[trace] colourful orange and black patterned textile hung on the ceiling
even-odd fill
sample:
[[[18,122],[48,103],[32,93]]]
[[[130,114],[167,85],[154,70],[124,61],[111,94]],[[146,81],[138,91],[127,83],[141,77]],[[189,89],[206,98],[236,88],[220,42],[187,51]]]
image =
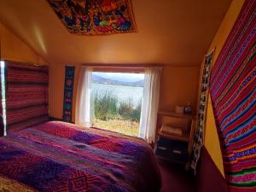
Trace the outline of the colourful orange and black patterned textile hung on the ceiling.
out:
[[[47,0],[68,32],[110,35],[137,32],[131,0]]]

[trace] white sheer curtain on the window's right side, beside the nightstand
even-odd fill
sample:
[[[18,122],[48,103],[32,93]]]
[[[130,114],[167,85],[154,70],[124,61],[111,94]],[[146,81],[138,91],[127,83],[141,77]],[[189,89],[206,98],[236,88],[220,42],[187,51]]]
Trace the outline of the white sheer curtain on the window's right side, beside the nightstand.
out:
[[[139,137],[154,142],[157,112],[160,97],[160,67],[145,69],[143,106],[140,121]]]

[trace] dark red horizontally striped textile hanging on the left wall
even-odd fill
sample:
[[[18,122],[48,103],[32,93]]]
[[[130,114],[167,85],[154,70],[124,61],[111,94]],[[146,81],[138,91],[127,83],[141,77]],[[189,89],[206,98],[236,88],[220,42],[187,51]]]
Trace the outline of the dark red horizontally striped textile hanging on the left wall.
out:
[[[6,67],[8,132],[48,120],[49,68],[12,61]]]

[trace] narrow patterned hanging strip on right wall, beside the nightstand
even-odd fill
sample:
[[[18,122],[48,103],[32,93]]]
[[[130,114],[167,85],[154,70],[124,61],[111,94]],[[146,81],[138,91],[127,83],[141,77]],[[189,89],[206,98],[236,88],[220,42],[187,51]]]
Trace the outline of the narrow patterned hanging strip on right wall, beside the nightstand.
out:
[[[196,171],[196,165],[200,159],[201,148],[204,145],[205,137],[205,124],[206,124],[206,112],[207,112],[207,97],[208,97],[208,84],[210,78],[210,72],[212,67],[212,60],[214,56],[215,49],[213,49],[209,54],[205,56],[205,63],[202,69],[201,76],[201,87],[200,87],[200,97],[197,109],[197,121],[195,127],[195,137],[193,143],[193,153],[191,158],[191,168]]]

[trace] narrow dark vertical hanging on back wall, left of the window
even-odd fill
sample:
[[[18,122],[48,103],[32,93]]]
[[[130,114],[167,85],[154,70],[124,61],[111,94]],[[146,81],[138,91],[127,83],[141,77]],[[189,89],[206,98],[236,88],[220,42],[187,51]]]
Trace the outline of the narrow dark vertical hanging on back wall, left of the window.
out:
[[[72,121],[72,99],[73,99],[73,80],[75,67],[67,67],[65,73],[64,102],[63,102],[63,121]]]

